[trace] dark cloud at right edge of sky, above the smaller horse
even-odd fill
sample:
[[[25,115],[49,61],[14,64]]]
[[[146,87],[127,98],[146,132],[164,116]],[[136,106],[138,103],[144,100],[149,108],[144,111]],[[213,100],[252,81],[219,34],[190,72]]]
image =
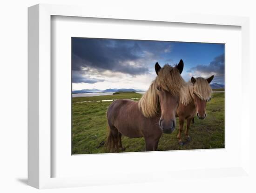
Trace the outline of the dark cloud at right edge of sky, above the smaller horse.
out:
[[[190,69],[190,72],[215,75],[214,82],[224,83],[224,54],[217,56],[209,65],[196,65]]]

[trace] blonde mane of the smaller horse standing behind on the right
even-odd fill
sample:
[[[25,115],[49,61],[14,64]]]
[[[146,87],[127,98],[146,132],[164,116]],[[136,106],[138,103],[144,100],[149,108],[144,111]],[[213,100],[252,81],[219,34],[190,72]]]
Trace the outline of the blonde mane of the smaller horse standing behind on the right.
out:
[[[212,89],[205,78],[195,78],[195,84],[189,81],[180,91],[180,103],[189,104],[194,100],[194,94],[202,100],[209,100],[212,97]]]

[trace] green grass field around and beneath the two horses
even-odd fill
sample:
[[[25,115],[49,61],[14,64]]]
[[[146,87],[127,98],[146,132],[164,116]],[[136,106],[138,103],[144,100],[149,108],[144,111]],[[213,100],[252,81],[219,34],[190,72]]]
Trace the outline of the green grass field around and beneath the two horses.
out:
[[[224,148],[224,95],[225,93],[213,93],[212,100],[207,104],[207,117],[204,120],[195,117],[195,123],[190,126],[190,142],[183,146],[178,144],[176,126],[172,134],[162,135],[158,150]],[[108,96],[73,97],[73,154],[107,153],[104,146],[108,136],[106,112],[112,101],[104,100],[121,98],[139,100],[141,96],[138,93],[128,92]],[[176,121],[178,123],[178,118]],[[185,127],[186,124],[184,130]],[[126,148],[124,152],[145,151],[144,138],[132,139],[122,136],[122,142]]]

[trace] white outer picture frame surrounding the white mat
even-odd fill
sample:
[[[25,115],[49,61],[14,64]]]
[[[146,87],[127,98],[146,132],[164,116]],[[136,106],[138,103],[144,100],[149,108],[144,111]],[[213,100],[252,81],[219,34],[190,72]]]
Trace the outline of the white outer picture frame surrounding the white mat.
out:
[[[242,97],[247,98],[249,88],[249,18],[216,15],[184,15],[176,13],[130,13],[102,9],[101,12],[83,6],[62,6],[38,4],[28,8],[28,185],[36,188],[77,187],[100,184],[138,183],[175,178],[180,171],[154,172],[155,177],[145,174],[110,176],[104,182],[98,176],[52,178],[51,167],[51,16],[73,16],[106,19],[130,19],[156,22],[178,22],[203,25],[240,26],[242,30]],[[249,112],[249,100],[243,100],[243,112]],[[242,116],[242,119],[245,118]],[[242,120],[243,121],[243,120]],[[218,177],[220,172],[234,174],[241,178],[250,177],[249,121],[241,134],[242,161],[235,168],[205,168],[194,171],[195,176],[207,173]],[[149,171],[150,172],[150,171]],[[193,178],[193,175],[190,178]],[[162,178],[159,178],[162,176]],[[219,176],[222,177],[223,176]]]

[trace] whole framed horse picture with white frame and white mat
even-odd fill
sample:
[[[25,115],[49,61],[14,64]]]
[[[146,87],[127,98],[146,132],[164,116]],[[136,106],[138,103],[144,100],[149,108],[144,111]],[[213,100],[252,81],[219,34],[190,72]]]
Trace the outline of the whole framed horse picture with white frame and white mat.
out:
[[[28,184],[250,178],[249,19],[114,15],[28,8]]]

